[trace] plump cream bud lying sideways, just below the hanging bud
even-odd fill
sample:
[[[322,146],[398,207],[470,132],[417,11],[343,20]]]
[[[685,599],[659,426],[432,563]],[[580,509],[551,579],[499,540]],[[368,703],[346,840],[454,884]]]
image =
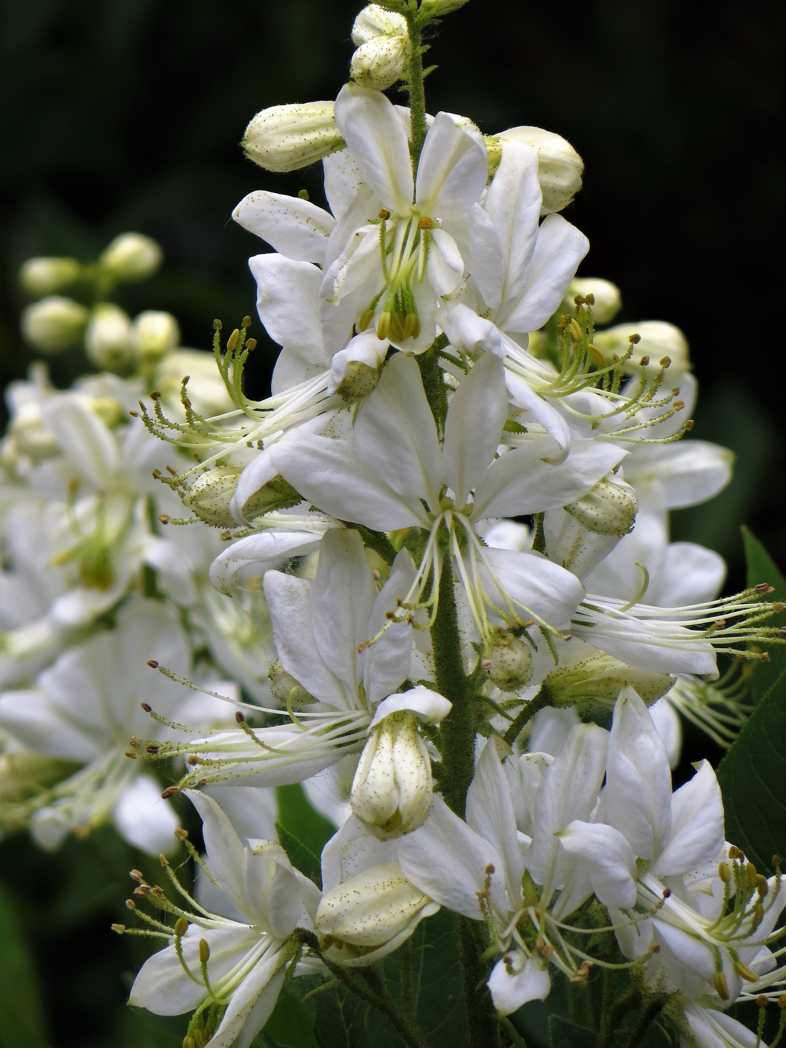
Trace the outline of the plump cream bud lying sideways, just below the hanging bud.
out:
[[[314,927],[342,945],[381,946],[414,930],[427,908],[431,913],[439,909],[405,877],[398,863],[385,863],[326,892]]]

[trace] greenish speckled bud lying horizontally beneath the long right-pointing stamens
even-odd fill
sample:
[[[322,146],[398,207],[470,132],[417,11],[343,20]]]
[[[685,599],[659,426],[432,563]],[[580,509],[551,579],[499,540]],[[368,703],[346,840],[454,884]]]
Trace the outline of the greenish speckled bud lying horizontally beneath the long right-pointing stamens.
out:
[[[674,684],[664,673],[636,670],[606,652],[595,651],[573,665],[558,667],[543,681],[552,706],[589,706],[613,709],[619,693],[628,684],[652,705]]]

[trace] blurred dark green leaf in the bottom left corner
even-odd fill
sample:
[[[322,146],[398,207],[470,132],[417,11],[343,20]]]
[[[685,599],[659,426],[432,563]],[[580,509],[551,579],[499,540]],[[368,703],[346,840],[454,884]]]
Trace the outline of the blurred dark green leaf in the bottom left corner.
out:
[[[4,1048],[44,1048],[44,1007],[32,958],[2,885],[0,943],[0,1043]]]

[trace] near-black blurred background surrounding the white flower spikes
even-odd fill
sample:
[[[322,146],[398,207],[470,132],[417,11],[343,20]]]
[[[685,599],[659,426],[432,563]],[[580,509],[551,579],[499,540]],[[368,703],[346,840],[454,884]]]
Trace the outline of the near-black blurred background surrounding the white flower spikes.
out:
[[[139,231],[161,243],[166,263],[117,296],[132,314],[169,309],[184,344],[204,348],[214,316],[234,327],[254,314],[246,258],[261,244],[232,209],[259,188],[324,197],[319,168],[271,175],[238,143],[266,106],[335,96],[358,9],[356,0],[0,4],[3,383],[30,361],[16,272],[31,255],[89,261],[117,233]],[[592,244],[581,271],[620,286],[618,320],[682,328],[701,383],[693,435],[737,453],[729,488],[675,514],[673,526],[674,538],[719,550],[735,587],[740,524],[786,560],[785,23],[776,2],[473,0],[435,32],[427,59],[439,65],[427,81],[431,112],[464,113],[485,132],[544,127],[584,157],[584,190],[566,212]],[[254,334],[262,393],[275,352],[256,321]],[[63,385],[84,369],[75,354],[51,364]],[[689,738],[685,756],[697,747],[706,751]],[[123,920],[132,860],[104,834],[46,860],[26,839],[0,849],[58,1048],[179,1043],[122,1007],[118,973],[135,961],[107,924]],[[87,911],[78,905],[86,885]]]

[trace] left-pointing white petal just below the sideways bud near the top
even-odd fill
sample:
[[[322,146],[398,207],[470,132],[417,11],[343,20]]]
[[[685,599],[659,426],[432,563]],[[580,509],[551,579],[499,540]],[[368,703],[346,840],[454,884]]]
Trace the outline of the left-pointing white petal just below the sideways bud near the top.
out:
[[[266,240],[277,252],[298,262],[322,262],[335,219],[323,208],[300,197],[257,190],[243,197],[232,213],[235,221]]]

